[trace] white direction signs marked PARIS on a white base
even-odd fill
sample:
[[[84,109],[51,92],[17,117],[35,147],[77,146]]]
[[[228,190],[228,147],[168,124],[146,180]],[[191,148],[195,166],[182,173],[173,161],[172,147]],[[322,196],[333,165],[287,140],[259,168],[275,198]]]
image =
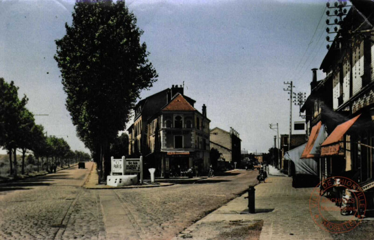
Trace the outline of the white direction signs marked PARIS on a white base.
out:
[[[137,173],[140,173],[140,183],[143,183],[143,157],[126,159],[122,156],[121,159],[114,159],[111,157],[112,171],[107,176],[107,185],[123,186],[133,185],[138,181]],[[134,174],[136,173],[136,174]]]

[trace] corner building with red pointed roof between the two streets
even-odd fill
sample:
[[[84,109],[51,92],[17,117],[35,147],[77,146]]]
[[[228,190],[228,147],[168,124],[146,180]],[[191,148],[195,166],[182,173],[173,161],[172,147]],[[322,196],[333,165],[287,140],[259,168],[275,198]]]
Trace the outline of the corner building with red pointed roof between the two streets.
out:
[[[133,139],[129,151],[144,156],[144,169],[154,167],[162,176],[189,168],[197,174],[209,169],[210,120],[205,104],[200,112],[195,102],[177,85],[139,101],[128,129]]]

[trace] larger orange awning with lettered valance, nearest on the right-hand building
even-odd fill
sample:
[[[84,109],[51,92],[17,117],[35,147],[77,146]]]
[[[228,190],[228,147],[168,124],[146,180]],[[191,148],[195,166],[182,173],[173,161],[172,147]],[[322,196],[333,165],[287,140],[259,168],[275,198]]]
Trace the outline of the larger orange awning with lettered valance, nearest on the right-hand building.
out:
[[[353,123],[357,120],[357,118],[360,115],[361,114],[335,127],[331,134],[321,144],[321,156],[331,156],[338,154],[340,149],[341,138],[344,136],[345,132],[353,125]]]

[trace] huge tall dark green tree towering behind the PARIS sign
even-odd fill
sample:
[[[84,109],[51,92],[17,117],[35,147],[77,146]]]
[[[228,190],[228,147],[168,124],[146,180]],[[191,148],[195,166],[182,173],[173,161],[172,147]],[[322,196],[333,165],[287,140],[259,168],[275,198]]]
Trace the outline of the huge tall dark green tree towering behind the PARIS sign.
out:
[[[61,71],[77,135],[98,164],[99,181],[110,172],[110,145],[125,129],[142,89],[156,81],[143,33],[123,0],[80,0],[72,25],[56,40]]]

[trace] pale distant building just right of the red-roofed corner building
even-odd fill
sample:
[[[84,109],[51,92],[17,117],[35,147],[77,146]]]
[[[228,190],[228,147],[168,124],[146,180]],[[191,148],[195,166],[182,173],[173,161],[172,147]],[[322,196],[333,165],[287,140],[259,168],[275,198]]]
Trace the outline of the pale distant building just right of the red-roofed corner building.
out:
[[[215,127],[210,131],[211,147],[218,149],[222,153],[225,161],[234,163],[239,166],[242,158],[241,139],[239,133],[233,128],[226,131],[219,127]]]

